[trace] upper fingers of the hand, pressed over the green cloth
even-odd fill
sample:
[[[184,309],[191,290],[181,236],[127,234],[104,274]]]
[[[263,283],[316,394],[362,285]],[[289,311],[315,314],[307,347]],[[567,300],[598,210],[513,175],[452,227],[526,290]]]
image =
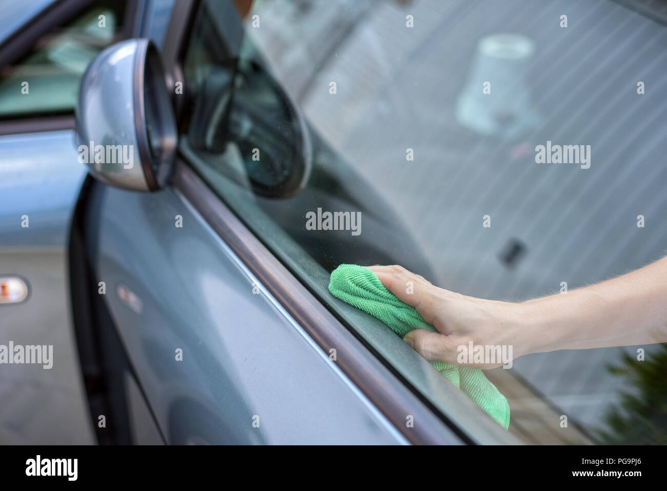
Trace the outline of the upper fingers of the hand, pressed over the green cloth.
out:
[[[444,290],[436,288],[424,278],[402,266],[369,266],[387,290],[396,295],[406,304],[416,308],[420,316],[429,324],[438,318],[438,308],[442,303]],[[436,326],[437,327],[437,326]]]

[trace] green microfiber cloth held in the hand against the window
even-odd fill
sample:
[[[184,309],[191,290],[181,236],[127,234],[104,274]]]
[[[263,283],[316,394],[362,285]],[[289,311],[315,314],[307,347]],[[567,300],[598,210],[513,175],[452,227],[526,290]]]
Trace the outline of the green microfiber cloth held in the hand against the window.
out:
[[[363,266],[338,266],[331,273],[329,292],[380,319],[401,338],[415,329],[438,332],[414,307],[387,290],[376,274]],[[510,405],[482,370],[438,361],[431,361],[431,364],[507,430],[510,426]]]

